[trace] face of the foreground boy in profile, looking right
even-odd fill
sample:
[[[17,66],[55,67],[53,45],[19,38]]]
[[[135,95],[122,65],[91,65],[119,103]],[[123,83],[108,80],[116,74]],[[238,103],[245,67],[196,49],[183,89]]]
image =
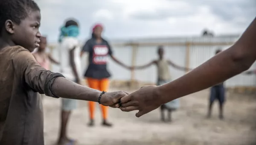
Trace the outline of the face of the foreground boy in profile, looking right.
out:
[[[41,14],[39,11],[30,11],[28,16],[21,20],[20,25],[14,24],[12,40],[15,45],[23,46],[32,52],[40,45],[41,34],[39,26]]]

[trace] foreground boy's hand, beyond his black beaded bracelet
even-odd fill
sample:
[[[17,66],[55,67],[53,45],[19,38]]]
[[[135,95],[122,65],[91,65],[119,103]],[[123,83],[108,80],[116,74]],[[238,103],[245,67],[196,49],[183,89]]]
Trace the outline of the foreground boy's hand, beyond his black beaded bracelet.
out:
[[[107,92],[102,95],[102,98],[100,100],[100,103],[103,106],[110,106],[113,108],[118,108],[120,99],[124,96],[129,95],[129,93],[125,91],[117,91],[117,92]]]

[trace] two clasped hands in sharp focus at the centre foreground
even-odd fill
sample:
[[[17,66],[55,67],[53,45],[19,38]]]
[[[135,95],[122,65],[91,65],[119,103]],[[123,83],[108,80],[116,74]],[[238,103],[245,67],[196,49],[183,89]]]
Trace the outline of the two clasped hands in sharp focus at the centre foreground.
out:
[[[101,99],[101,104],[104,106],[119,108],[125,112],[139,110],[136,113],[137,117],[157,109],[164,103],[158,86],[141,87],[133,93],[125,91],[105,93]]]

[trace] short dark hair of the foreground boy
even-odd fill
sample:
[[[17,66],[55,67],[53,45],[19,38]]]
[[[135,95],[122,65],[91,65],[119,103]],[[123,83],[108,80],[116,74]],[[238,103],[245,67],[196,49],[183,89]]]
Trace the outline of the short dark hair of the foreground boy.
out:
[[[40,11],[33,0],[0,0],[0,32],[6,20],[20,24],[28,16],[29,11]]]

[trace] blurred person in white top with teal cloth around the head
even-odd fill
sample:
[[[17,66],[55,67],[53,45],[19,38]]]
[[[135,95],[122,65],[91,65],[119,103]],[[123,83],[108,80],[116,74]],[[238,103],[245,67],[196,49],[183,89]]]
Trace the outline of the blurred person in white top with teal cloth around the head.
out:
[[[79,26],[75,20],[68,20],[61,28],[59,38],[61,73],[65,78],[81,84],[81,66],[80,66],[80,47],[77,36],[79,35]],[[72,110],[76,109],[77,100],[62,98],[61,108],[61,130],[58,139],[58,145],[73,145],[75,140],[67,137],[67,123]]]

